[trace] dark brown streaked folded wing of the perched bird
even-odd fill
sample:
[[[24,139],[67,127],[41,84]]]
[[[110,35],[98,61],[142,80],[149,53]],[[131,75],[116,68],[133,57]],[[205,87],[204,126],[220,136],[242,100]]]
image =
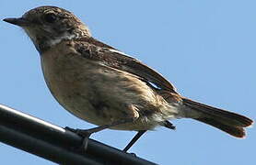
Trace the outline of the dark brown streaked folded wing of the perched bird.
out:
[[[130,72],[145,82],[154,83],[161,90],[177,93],[175,87],[157,71],[95,38],[79,38],[76,43],[76,50],[87,59],[99,60],[104,65]]]

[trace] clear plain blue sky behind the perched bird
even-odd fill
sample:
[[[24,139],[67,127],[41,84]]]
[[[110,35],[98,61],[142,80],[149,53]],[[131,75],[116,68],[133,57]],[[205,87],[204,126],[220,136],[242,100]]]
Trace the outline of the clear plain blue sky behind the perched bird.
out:
[[[184,96],[256,118],[256,1],[1,0],[0,18],[46,5],[72,11],[95,38],[143,60]],[[0,30],[0,103],[58,126],[92,127],[53,99],[39,54],[23,30],[3,21]],[[255,127],[237,139],[190,119],[172,123],[177,130],[158,127],[130,151],[163,165],[256,163]],[[133,136],[104,130],[92,138],[123,148]],[[0,155],[3,164],[52,164],[3,143]]]

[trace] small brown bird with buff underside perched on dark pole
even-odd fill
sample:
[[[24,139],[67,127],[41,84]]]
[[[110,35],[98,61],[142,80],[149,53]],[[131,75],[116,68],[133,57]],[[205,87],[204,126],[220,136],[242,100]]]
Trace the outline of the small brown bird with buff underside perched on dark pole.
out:
[[[23,28],[41,57],[45,82],[65,110],[97,125],[72,129],[87,139],[103,129],[136,131],[127,152],[148,130],[175,129],[169,120],[192,118],[232,137],[246,136],[253,120],[186,98],[160,73],[93,38],[70,11],[39,6],[4,21]],[[87,140],[84,145],[86,146]]]

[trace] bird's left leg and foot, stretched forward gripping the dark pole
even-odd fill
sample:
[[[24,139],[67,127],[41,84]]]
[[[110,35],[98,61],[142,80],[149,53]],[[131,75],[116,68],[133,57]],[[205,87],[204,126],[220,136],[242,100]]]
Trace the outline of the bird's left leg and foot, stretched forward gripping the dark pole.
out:
[[[81,137],[84,137],[82,147],[84,150],[87,150],[88,137],[90,137],[91,134],[99,132],[106,128],[110,128],[112,126],[119,126],[125,123],[131,123],[131,122],[134,122],[134,120],[135,120],[134,118],[125,118],[125,119],[112,122],[110,125],[97,126],[90,129],[73,129],[70,127],[65,127],[65,129],[75,132]]]

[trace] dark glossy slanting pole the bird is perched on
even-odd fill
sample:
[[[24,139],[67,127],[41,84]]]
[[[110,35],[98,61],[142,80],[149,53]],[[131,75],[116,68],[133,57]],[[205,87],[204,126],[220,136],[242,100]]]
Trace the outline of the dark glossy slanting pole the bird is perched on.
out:
[[[145,159],[89,139],[81,151],[82,137],[39,118],[0,104],[0,141],[60,164],[156,165]]]

